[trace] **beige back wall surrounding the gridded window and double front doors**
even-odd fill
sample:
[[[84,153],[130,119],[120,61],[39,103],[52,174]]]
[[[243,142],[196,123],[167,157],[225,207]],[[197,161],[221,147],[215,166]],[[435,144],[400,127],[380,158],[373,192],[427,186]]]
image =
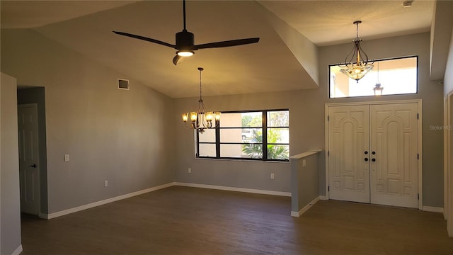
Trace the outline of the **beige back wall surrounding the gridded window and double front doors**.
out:
[[[365,41],[362,47],[372,59],[418,55],[418,94],[362,98],[328,98],[328,65],[344,60],[350,44],[319,49],[319,89],[283,91],[268,94],[243,94],[205,97],[212,111],[246,111],[289,108],[290,155],[309,149],[323,149],[319,154],[319,191],[325,193],[325,103],[423,99],[423,201],[424,205],[443,206],[442,130],[430,130],[430,125],[442,125],[442,86],[429,79],[430,34],[421,33],[397,38]],[[279,84],[275,84],[278,86]],[[383,84],[383,86],[385,86]],[[286,163],[239,162],[215,159],[195,159],[193,135],[183,127],[179,113],[188,111],[196,98],[175,100],[176,181],[211,185],[258,188],[270,191],[290,191],[290,169]],[[192,167],[192,174],[188,174]],[[275,172],[275,180],[270,173]]]

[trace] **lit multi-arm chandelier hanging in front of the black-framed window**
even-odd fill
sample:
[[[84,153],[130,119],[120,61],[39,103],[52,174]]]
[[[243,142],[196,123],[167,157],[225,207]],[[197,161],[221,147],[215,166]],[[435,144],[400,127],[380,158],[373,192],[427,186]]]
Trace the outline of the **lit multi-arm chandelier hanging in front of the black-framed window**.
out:
[[[190,125],[188,128],[193,128],[200,133],[205,132],[207,128],[215,128],[219,125],[220,112],[206,111],[205,103],[201,96],[201,72],[204,70],[202,67],[198,67],[200,71],[200,100],[198,100],[198,109],[197,111],[192,111],[190,113],[183,113],[183,122],[188,124],[190,120]],[[212,123],[214,122],[214,124]]]

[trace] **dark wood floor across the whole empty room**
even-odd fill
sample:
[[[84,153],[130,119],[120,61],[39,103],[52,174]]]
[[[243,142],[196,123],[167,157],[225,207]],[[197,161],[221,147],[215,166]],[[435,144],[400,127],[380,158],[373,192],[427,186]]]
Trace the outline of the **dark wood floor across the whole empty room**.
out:
[[[52,220],[23,215],[24,255],[453,254],[442,214],[173,186]]]

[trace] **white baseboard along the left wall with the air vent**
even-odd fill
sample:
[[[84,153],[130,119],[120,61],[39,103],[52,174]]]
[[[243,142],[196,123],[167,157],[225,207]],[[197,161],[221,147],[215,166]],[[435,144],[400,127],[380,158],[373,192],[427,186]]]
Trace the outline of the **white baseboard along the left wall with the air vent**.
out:
[[[63,216],[63,215],[68,215],[68,214],[73,213],[73,212],[79,212],[81,210],[94,208],[94,207],[99,206],[99,205],[105,205],[107,203],[112,203],[112,202],[115,202],[117,200],[122,200],[122,199],[125,199],[125,198],[132,198],[133,196],[139,196],[139,195],[142,195],[144,193],[148,193],[148,192],[151,192],[151,191],[157,191],[159,189],[168,188],[168,187],[171,187],[171,186],[174,186],[174,185],[175,185],[175,183],[166,183],[166,184],[161,185],[161,186],[156,186],[156,187],[152,187],[152,188],[146,188],[146,189],[144,189],[142,191],[135,191],[135,192],[132,192],[132,193],[127,193],[127,194],[122,195],[122,196],[117,196],[115,198],[108,198],[108,199],[97,201],[97,202],[94,202],[94,203],[81,205],[81,206],[78,206],[76,208],[70,208],[70,209],[67,209],[67,210],[59,211],[59,212],[52,212],[52,213],[47,214],[47,215],[43,213],[43,214],[40,214],[40,217],[50,220],[50,219],[53,219],[55,217],[60,217],[60,216]]]

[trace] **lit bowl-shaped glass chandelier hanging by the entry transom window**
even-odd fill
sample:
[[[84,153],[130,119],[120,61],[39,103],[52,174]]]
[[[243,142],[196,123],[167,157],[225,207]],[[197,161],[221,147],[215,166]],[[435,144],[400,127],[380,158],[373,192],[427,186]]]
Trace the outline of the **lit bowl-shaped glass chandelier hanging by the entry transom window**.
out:
[[[359,82],[362,77],[369,72],[369,70],[373,69],[373,61],[368,60],[367,53],[362,50],[360,47],[360,42],[362,39],[359,38],[359,24],[362,21],[354,21],[353,24],[357,26],[357,35],[352,43],[354,47],[352,47],[351,52],[345,58],[345,64],[340,64],[340,67],[344,67],[340,69],[340,72],[343,74],[348,75],[351,79],[355,79],[357,83]]]

